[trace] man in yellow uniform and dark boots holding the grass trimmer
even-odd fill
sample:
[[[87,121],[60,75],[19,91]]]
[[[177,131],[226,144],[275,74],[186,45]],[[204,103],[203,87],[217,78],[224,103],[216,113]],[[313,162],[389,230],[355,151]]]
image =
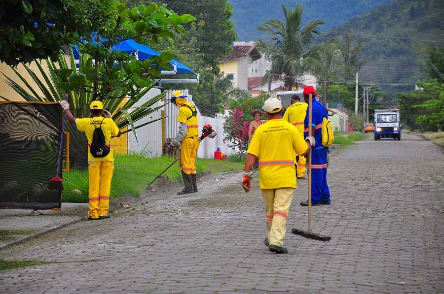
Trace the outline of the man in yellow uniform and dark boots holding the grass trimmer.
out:
[[[171,141],[171,145],[181,145],[180,164],[185,185],[184,189],[179,191],[177,195],[195,193],[197,192],[196,156],[199,148],[199,125],[197,123],[196,106],[186,101],[186,95],[180,90],[173,93],[170,101],[179,107],[177,116],[177,122],[180,124],[179,131]]]

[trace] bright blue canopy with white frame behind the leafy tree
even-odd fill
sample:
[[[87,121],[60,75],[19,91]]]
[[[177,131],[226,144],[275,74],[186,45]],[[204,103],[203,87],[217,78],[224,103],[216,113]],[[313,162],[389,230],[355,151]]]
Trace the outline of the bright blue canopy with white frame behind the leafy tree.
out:
[[[97,44],[97,42],[93,38],[93,43]],[[74,48],[74,58],[78,59],[78,52],[76,49],[78,49],[77,46],[73,45]],[[137,43],[135,40],[130,39],[126,41],[122,41],[113,47],[111,47],[111,50],[117,50],[117,51],[123,51],[126,52],[128,55],[135,56],[136,59],[140,61],[144,61],[146,59],[152,59],[153,56],[160,56],[160,53],[152,50],[148,46],[145,46],[143,44]],[[162,74],[165,75],[171,75],[171,74],[195,74],[196,79],[162,79],[162,83],[198,83],[199,82],[199,74],[189,68],[188,66],[178,62],[177,60],[172,59],[170,61],[171,68],[166,69],[162,68]]]

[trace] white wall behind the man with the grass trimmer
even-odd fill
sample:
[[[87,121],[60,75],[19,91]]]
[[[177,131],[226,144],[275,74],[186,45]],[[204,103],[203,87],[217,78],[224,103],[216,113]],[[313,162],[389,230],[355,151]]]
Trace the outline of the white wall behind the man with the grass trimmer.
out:
[[[186,92],[186,90],[184,91]],[[156,95],[160,94],[159,89],[151,89],[143,98],[141,98],[133,107],[142,105],[149,98],[152,98]],[[169,101],[171,97],[171,93],[167,93],[165,96],[165,100]],[[188,96],[188,101],[193,103],[192,96]],[[158,101],[156,105],[162,105],[164,102]],[[193,103],[194,104],[194,103]],[[199,109],[197,109],[197,121],[199,122],[199,135],[202,134],[202,128],[206,124],[211,124],[213,129],[217,131],[218,135],[211,139],[205,138],[200,142],[199,150],[197,151],[197,157],[200,158],[213,158],[214,152],[217,148],[221,148],[221,151],[230,155],[233,154],[234,151],[231,150],[226,144],[223,143],[223,124],[225,123],[224,119],[216,119],[211,117],[205,117],[200,115]],[[131,112],[130,109],[129,112]],[[161,109],[150,114],[149,117],[143,118],[137,121],[134,125],[140,126],[148,121],[160,118],[161,110],[165,110],[165,115],[168,116],[165,121],[165,129],[166,129],[166,138],[173,138],[178,129],[177,123],[177,114],[178,108],[172,104],[168,104],[166,107],[162,107]],[[160,121],[144,126],[140,129],[136,130],[137,139],[139,144],[136,142],[136,138],[134,136],[133,131],[128,132],[128,151],[131,152],[142,152],[145,146],[145,151],[148,151],[146,154],[148,157],[157,157],[162,155],[162,125]]]

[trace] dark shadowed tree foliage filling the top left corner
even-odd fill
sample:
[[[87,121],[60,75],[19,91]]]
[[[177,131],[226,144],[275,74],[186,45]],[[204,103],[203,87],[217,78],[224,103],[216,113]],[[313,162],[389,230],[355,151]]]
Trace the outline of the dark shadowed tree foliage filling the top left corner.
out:
[[[75,0],[0,1],[0,62],[7,65],[34,59],[57,59],[60,49],[74,41],[71,12]]]

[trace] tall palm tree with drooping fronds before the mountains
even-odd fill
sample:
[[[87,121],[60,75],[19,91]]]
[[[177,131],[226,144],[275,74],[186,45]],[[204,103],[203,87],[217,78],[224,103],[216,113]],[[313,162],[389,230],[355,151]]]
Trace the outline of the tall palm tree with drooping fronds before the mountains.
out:
[[[304,8],[296,5],[294,10],[287,11],[282,5],[285,20],[267,20],[258,30],[270,34],[270,41],[261,39],[256,43],[258,50],[271,61],[270,73],[285,75],[284,90],[292,90],[296,85],[296,76],[306,72],[318,74],[324,65],[319,60],[317,47],[310,47],[315,34],[320,34],[318,26],[324,25],[321,19],[310,21],[301,29]],[[264,79],[268,79],[266,75]]]

